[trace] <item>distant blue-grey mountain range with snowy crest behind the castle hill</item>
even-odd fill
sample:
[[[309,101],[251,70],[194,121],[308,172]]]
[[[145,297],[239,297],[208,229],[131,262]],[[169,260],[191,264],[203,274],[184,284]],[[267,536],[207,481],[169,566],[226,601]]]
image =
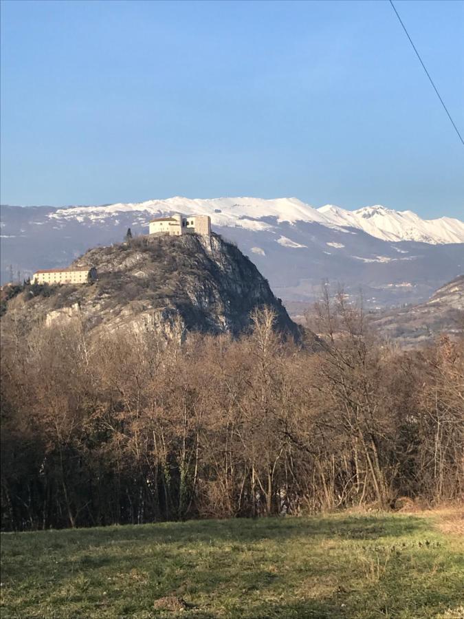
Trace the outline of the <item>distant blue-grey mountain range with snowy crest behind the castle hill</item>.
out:
[[[312,208],[296,198],[173,197],[103,206],[2,206],[1,279],[76,259],[120,241],[127,228],[148,232],[168,213],[210,215],[213,229],[237,243],[284,301],[311,301],[322,281],[344,285],[366,305],[424,301],[464,272],[464,222],[421,219],[384,206]],[[11,269],[10,266],[12,265]]]

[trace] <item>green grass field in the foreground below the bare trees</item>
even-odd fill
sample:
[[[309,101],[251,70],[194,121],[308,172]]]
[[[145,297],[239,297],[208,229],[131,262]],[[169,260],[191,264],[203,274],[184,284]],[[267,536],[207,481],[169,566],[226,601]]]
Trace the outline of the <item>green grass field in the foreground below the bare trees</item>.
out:
[[[2,534],[1,617],[455,619],[463,550],[385,513]]]

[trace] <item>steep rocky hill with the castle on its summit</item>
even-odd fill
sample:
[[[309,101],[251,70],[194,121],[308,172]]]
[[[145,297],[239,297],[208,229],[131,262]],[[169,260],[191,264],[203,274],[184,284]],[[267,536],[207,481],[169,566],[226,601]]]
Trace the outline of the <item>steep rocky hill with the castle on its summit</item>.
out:
[[[256,266],[219,235],[137,237],[129,243],[93,248],[74,266],[94,266],[89,285],[25,287],[6,303],[4,318],[21,315],[29,323],[79,316],[87,329],[176,328],[212,334],[244,332],[254,307],[276,312],[276,326],[298,337],[280,299]]]

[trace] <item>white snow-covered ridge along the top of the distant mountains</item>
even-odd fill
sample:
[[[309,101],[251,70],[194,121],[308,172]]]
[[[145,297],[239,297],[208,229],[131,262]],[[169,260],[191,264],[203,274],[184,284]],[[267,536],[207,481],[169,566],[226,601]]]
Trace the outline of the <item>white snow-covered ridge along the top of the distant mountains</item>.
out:
[[[172,197],[138,203],[118,203],[104,206],[69,206],[49,213],[50,219],[74,219],[79,222],[97,223],[115,218],[118,213],[132,213],[135,224],[146,217],[157,217],[179,211],[186,215],[210,215],[213,226],[245,228],[247,230],[272,230],[275,224],[287,222],[315,223],[327,228],[349,232],[346,228],[364,230],[368,235],[383,241],[418,241],[444,244],[464,243],[464,222],[452,217],[421,219],[410,210],[397,211],[381,205],[346,210],[327,204],[313,208],[296,197],[263,199],[257,197],[222,197],[190,199]],[[138,216],[137,216],[138,215]]]

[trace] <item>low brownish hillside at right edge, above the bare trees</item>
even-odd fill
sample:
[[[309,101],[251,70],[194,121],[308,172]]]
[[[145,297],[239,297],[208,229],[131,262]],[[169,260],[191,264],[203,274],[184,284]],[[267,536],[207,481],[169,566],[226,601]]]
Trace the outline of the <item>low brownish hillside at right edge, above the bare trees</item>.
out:
[[[406,348],[430,342],[439,334],[464,333],[464,275],[434,292],[426,303],[373,314],[371,324]]]

